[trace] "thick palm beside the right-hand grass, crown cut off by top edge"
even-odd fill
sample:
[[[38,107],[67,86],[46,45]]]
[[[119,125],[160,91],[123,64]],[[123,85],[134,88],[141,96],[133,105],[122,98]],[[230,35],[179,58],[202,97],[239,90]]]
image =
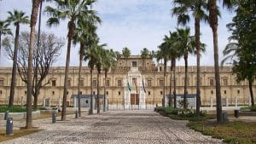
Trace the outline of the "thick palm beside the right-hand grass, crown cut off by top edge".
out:
[[[232,9],[232,5],[236,3],[236,0],[223,0],[223,5],[228,9]],[[221,104],[221,92],[220,92],[220,78],[219,78],[219,66],[218,66],[218,5],[216,0],[208,0],[209,9],[209,25],[212,28],[213,37],[213,55],[214,55],[214,72],[216,83],[216,112],[217,123],[223,122],[222,119],[222,104]]]

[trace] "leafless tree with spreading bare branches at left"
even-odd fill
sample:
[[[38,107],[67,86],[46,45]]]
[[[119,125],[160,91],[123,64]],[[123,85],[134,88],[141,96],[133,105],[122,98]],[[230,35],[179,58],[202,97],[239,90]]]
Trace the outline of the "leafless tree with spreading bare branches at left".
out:
[[[36,34],[36,38],[38,33]],[[19,54],[17,58],[17,67],[20,78],[27,84],[27,60],[28,60],[28,47],[29,47],[29,32],[22,32],[19,42]],[[13,45],[14,38],[7,37],[3,40],[3,47],[7,51],[9,58],[13,58]],[[39,42],[39,44],[38,44]],[[33,55],[33,72],[32,72],[32,95],[34,96],[34,108],[38,105],[38,95],[42,87],[49,82],[43,84],[44,78],[49,73],[49,68],[55,62],[56,58],[60,55],[60,50],[64,46],[64,40],[55,37],[54,34],[41,33],[40,39],[36,39],[33,43],[35,54]]]

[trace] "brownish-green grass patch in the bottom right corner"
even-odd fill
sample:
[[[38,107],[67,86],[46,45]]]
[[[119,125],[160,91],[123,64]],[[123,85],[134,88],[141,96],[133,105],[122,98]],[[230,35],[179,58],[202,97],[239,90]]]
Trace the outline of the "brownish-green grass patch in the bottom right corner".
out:
[[[214,138],[224,139],[224,142],[227,143],[256,143],[256,123],[226,122],[224,124],[216,124],[215,121],[190,121],[188,126],[204,135],[212,135]]]

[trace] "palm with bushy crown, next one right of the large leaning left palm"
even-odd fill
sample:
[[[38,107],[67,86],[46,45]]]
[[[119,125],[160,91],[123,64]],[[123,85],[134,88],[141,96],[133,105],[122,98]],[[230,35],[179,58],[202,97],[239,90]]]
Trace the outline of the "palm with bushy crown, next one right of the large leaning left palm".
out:
[[[81,71],[82,71],[82,60],[84,59],[85,50],[91,47],[96,36],[96,26],[93,21],[79,20],[78,27],[75,30],[73,43],[80,43],[79,49],[79,89],[78,89],[78,100],[79,100],[79,117],[81,117]]]

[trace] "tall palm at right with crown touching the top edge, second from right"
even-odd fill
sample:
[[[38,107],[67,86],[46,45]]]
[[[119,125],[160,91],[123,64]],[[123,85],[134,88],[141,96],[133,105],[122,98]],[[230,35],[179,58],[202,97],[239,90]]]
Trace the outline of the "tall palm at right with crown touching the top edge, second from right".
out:
[[[201,91],[200,91],[200,21],[207,20],[207,1],[197,0],[197,1],[180,1],[174,0],[173,3],[176,5],[172,9],[172,15],[177,15],[177,23],[183,26],[188,24],[190,18],[189,14],[195,20],[195,47],[196,47],[196,115],[200,115],[201,106]]]

